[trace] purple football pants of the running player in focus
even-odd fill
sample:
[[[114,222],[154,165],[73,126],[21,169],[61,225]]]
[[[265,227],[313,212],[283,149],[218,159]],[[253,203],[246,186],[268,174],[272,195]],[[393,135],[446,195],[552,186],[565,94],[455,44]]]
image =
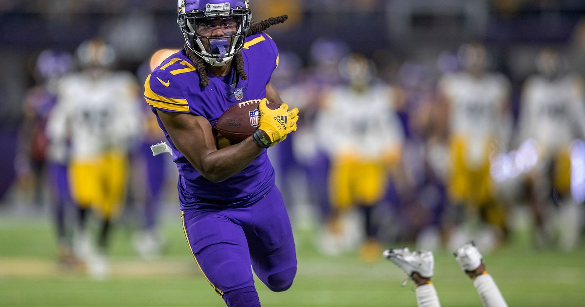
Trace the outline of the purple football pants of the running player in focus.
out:
[[[195,261],[218,294],[254,286],[252,268],[271,291],[285,291],[297,256],[283,198],[274,186],[246,208],[183,212]]]

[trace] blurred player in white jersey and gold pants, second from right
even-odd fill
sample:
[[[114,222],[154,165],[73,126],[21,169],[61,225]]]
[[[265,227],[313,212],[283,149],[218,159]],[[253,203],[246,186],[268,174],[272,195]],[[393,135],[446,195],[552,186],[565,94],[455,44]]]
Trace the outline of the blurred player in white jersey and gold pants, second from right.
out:
[[[444,75],[438,84],[449,112],[450,202],[455,205],[452,209],[458,208],[459,216],[465,209],[478,212],[484,222],[505,234],[504,209],[494,195],[490,176],[490,156],[505,150],[508,142],[509,130],[505,128],[511,120],[510,84],[503,75],[486,71],[487,51],[483,45],[463,45],[459,58],[464,71]],[[484,232],[481,237],[486,239],[478,238],[478,243],[493,247],[499,236],[490,229]],[[452,249],[468,240],[460,231],[450,239]]]

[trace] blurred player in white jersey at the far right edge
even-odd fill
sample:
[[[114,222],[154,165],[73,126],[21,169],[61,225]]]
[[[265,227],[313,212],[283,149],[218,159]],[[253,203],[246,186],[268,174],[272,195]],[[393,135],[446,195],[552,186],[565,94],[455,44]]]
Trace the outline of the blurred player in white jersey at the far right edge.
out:
[[[543,50],[537,60],[538,74],[526,80],[522,91],[518,143],[529,144],[538,160],[529,171],[528,187],[535,214],[535,243],[552,243],[550,222],[556,215],[553,200],[559,205],[562,226],[560,247],[572,249],[578,242],[581,223],[579,206],[571,195],[571,147],[583,138],[585,96],[583,83],[566,74],[562,58],[552,49]],[[549,228],[549,229],[547,229]]]

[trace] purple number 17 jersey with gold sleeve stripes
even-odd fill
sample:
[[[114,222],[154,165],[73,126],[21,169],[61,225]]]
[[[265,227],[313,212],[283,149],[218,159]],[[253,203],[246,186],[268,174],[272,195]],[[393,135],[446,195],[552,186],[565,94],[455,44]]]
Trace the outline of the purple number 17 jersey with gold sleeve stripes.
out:
[[[247,37],[242,50],[247,80],[235,87],[209,74],[209,86],[202,89],[199,75],[181,50],[154,69],[144,84],[144,98],[156,110],[203,116],[211,126],[230,106],[266,97],[266,85],[277,67],[278,50],[270,36],[258,33]],[[225,79],[225,78],[224,78]],[[157,115],[159,126],[173,149],[179,171],[178,192],[181,210],[204,206],[248,206],[265,195],[274,185],[274,169],[266,150],[240,173],[223,182],[205,179],[174,146]]]

